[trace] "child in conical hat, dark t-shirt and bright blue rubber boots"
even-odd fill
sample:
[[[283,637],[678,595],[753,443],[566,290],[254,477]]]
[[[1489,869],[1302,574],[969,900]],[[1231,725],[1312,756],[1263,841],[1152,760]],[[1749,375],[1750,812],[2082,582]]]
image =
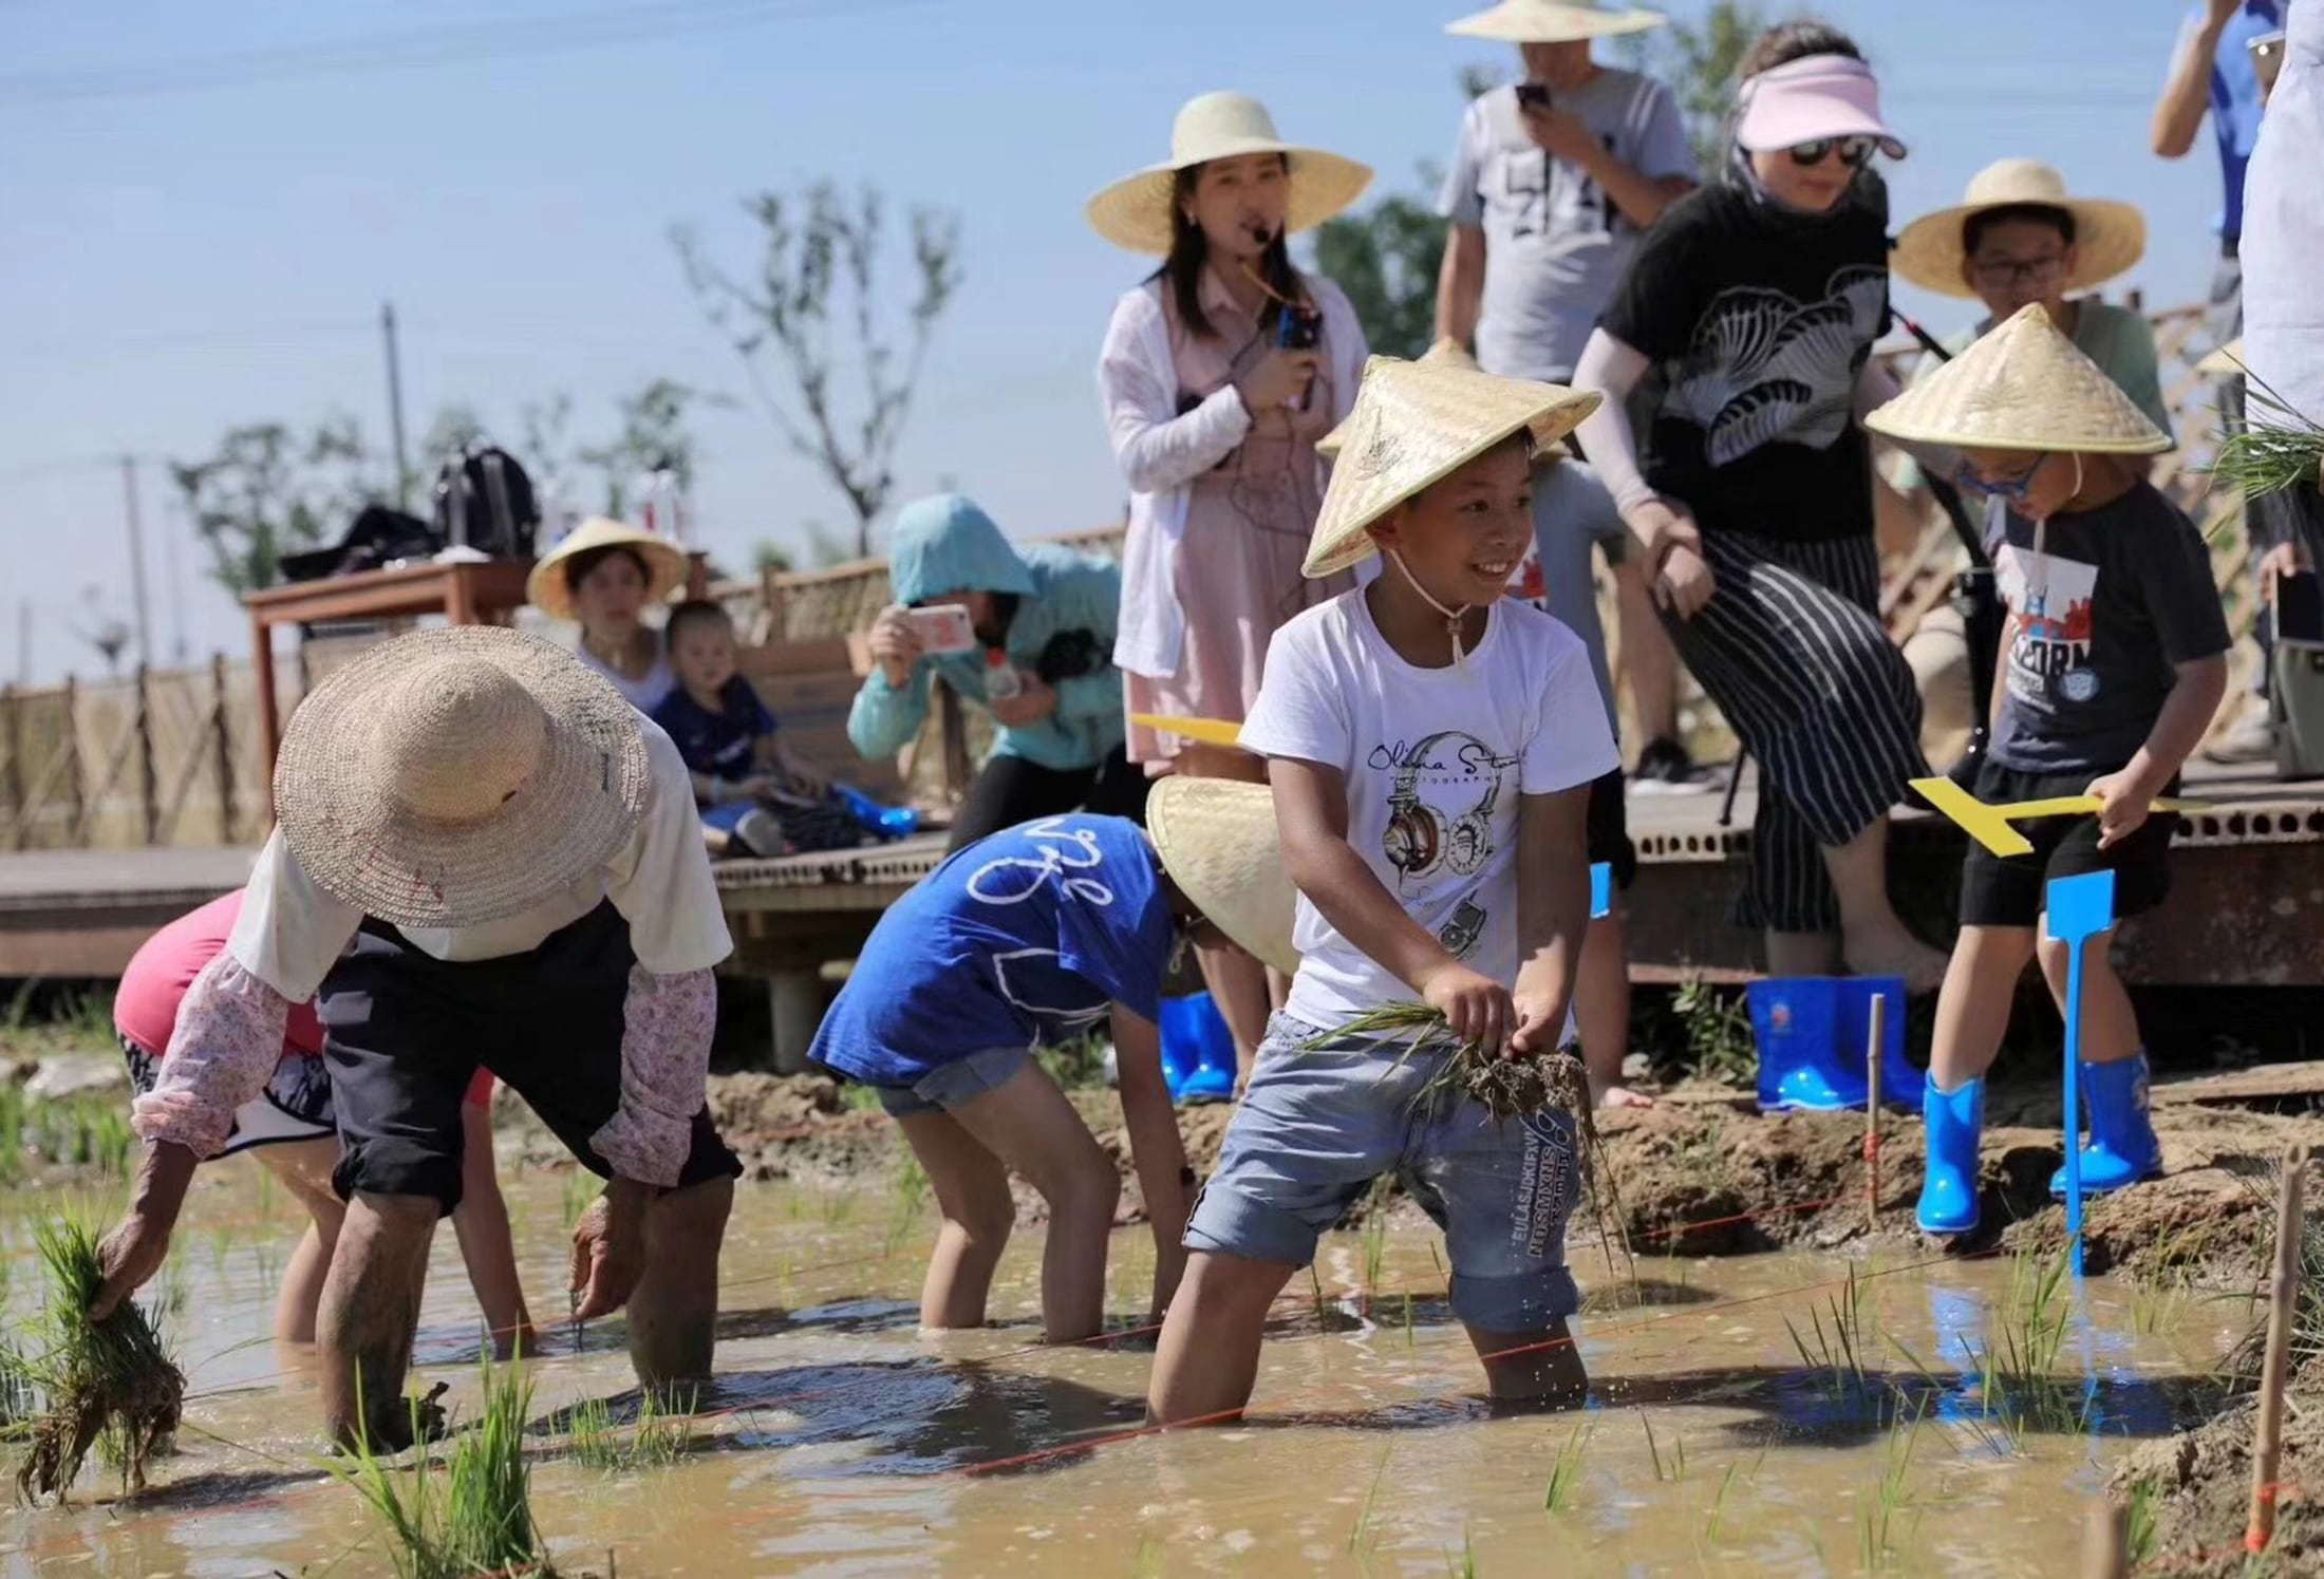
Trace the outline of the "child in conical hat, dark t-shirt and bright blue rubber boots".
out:
[[[2010,998],[2040,959],[2064,1008],[2068,950],[2047,938],[2050,878],[2115,873],[2115,915],[2152,910],[2168,889],[2171,817],[2150,817],[2178,783],[2226,690],[2226,618],[2201,534],[2136,471],[2108,455],[2171,448],[2106,372],[2027,307],[1880,406],[1866,427],[1961,450],[1964,492],[2001,525],[1994,555],[2010,620],[2003,634],[1992,752],[1978,799],[2094,794],[2089,817],[2022,824],[2015,859],[1971,843],[1961,868],[1961,938],[1936,1003],[1922,1108],[1929,1175],[1920,1226],[1978,1226],[1978,1129],[1985,1070],[2008,1031]],[[2106,938],[2082,971],[2082,1189],[2110,1191],[2161,1170],[2147,1122],[2147,1059]],[[2059,1182],[2052,1180],[2052,1189]]]

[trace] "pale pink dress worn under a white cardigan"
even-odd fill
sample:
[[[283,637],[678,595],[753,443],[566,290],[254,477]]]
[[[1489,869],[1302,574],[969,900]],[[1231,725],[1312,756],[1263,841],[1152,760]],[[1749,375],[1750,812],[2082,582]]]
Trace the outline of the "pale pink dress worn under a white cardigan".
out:
[[[1169,290],[1162,293],[1162,307],[1181,409],[1215,392],[1267,353],[1257,320],[1208,272],[1202,279],[1202,307],[1215,334],[1188,334]],[[1276,627],[1355,585],[1353,576],[1308,581],[1299,574],[1322,509],[1315,441],[1332,430],[1329,367],[1332,358],[1325,355],[1304,411],[1260,411],[1243,444],[1188,488],[1176,571],[1185,648],[1178,673],[1167,680],[1122,676],[1132,713],[1243,722],[1260,694],[1260,666]],[[1176,734],[1129,724],[1132,762],[1167,764],[1178,745]]]

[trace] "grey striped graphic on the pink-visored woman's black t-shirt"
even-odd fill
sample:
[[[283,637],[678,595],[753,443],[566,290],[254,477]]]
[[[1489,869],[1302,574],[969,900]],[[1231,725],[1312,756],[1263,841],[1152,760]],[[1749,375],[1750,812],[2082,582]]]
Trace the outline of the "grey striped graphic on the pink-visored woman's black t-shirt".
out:
[[[1848,432],[1857,362],[1885,307],[1887,274],[1862,265],[1836,269],[1820,302],[1722,290],[1694,325],[1664,411],[1703,430],[1713,467],[1778,439],[1829,450]]]

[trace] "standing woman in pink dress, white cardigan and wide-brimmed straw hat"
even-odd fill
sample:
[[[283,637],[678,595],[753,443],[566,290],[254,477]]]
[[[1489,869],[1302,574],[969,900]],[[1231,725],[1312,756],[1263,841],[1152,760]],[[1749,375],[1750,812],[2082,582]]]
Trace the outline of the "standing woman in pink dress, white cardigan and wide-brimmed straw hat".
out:
[[[1113,662],[1134,715],[1241,722],[1276,627],[1348,587],[1299,562],[1322,504],[1315,441],[1355,404],[1364,330],[1339,286],[1292,267],[1285,237],[1369,181],[1285,144],[1257,100],[1208,93],[1178,111],[1167,163],[1090,202],[1099,235],[1164,260],[1113,307],[1097,362],[1132,490]],[[1264,783],[1257,757],[1136,722],[1129,759]],[[1202,973],[1248,1075],[1267,975],[1232,947],[1204,950]]]

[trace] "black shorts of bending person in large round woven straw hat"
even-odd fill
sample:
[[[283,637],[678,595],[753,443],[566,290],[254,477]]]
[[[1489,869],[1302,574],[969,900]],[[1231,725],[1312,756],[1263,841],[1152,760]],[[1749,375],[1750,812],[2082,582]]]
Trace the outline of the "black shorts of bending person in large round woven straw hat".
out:
[[[339,1119],[339,1198],[432,1196],[460,1205],[460,1101],[490,1068],[590,1173],[621,1105],[630,924],[600,903],[528,954],[451,964],[365,920],[323,982],[323,1059]],[[679,1187],[741,1173],[709,1108],[695,1115]]]

